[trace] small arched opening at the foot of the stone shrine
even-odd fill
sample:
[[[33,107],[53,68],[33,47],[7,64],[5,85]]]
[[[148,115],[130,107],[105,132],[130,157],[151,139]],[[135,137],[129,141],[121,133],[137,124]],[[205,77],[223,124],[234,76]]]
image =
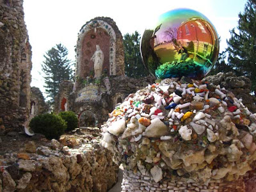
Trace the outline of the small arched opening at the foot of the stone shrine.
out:
[[[90,110],[85,110],[79,115],[79,127],[95,127],[96,117]]]

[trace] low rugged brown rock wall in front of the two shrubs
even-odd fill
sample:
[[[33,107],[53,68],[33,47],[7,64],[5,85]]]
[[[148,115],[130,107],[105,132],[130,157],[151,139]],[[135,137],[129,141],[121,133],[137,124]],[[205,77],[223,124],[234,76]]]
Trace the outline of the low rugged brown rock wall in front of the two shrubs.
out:
[[[117,180],[113,155],[100,146],[96,132],[77,132],[47,147],[38,146],[44,140],[38,138],[1,156],[0,191],[108,191]]]

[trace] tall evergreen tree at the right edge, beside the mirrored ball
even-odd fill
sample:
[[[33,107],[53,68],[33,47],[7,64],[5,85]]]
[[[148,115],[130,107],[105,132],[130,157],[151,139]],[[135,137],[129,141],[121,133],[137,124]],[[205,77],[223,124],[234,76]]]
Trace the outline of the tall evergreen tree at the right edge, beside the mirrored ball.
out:
[[[237,76],[251,79],[252,90],[256,88],[256,1],[248,0],[243,13],[239,13],[237,29],[230,31],[228,63]]]

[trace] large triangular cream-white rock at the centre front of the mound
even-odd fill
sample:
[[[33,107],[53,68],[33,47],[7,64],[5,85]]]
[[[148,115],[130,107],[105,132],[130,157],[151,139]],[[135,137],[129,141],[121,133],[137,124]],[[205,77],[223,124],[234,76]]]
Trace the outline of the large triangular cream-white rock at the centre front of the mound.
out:
[[[148,125],[145,132],[143,132],[143,136],[149,138],[159,138],[166,136],[166,134],[168,134],[168,127],[159,118],[151,120],[151,124]]]

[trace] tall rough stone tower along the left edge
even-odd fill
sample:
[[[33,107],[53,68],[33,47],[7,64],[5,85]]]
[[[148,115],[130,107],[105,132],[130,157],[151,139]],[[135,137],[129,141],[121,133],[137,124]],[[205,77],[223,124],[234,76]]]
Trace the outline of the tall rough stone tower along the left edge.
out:
[[[31,45],[23,1],[0,1],[1,132],[19,130],[29,116]]]

